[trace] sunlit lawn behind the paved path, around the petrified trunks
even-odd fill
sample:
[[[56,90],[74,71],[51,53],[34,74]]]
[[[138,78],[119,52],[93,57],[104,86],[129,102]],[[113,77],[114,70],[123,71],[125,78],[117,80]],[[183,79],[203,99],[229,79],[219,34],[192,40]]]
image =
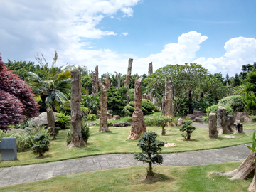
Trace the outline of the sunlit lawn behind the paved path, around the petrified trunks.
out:
[[[45,153],[43,159],[36,159],[33,151],[18,153],[18,160],[1,161],[0,167],[19,166],[27,164],[39,164],[64,159],[75,159],[83,156],[97,154],[118,154],[139,152],[137,141],[127,140],[131,127],[110,127],[111,132],[97,133],[99,127],[90,129],[90,138],[87,146],[69,149],[66,146],[65,130],[60,131],[57,139],[50,141],[50,150]],[[162,153],[174,153],[181,151],[196,151],[202,149],[215,149],[251,142],[252,133],[236,135],[235,139],[225,139],[219,136],[218,139],[208,138],[208,129],[197,128],[191,136],[191,141],[185,141],[181,137],[178,127],[167,127],[166,136],[161,136],[160,127],[147,127],[148,131],[156,132],[158,139],[168,143],[176,143],[176,146],[164,148]]]

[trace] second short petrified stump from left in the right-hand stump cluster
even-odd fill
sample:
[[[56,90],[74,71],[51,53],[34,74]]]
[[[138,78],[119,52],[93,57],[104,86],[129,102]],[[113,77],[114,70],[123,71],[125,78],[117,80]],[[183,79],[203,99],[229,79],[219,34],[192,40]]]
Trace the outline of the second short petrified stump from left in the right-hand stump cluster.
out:
[[[217,129],[219,135],[230,133],[227,129],[226,118],[227,115],[225,107],[219,106],[217,114]]]

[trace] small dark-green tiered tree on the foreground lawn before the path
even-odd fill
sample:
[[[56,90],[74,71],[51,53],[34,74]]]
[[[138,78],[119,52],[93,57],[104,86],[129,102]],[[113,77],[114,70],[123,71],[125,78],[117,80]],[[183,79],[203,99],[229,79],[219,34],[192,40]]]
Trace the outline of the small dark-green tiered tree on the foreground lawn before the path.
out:
[[[146,169],[146,176],[154,176],[152,171],[152,164],[163,163],[163,156],[157,154],[161,151],[161,147],[164,146],[164,142],[156,140],[157,134],[155,132],[145,132],[139,138],[137,146],[142,149],[142,154],[134,154],[134,159],[143,161],[149,164],[149,169]]]

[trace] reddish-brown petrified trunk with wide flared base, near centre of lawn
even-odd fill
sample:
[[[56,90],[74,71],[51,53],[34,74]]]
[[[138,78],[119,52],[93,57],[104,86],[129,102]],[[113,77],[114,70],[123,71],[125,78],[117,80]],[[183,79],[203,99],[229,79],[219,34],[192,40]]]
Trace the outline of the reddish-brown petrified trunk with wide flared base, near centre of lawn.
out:
[[[134,112],[132,114],[132,128],[129,132],[127,139],[135,140],[139,139],[140,135],[146,132],[146,124],[143,119],[142,112],[142,78],[134,80],[135,92],[134,92]]]

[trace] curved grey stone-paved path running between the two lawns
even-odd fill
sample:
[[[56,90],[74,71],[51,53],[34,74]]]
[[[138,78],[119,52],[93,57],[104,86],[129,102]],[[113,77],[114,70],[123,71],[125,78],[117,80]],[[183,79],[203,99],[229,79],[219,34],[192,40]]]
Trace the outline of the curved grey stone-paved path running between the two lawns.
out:
[[[194,126],[199,127],[198,124],[194,124]],[[206,126],[201,128],[206,128]],[[247,147],[242,144],[221,149],[162,154],[164,157],[164,163],[162,165],[196,166],[219,164],[228,161],[244,160],[249,153],[250,149],[247,149]],[[85,171],[142,165],[146,164],[143,164],[141,161],[134,160],[133,154],[107,154],[99,156],[87,156],[65,161],[56,161],[46,164],[0,168],[0,187],[11,186],[18,183],[39,181],[55,176],[77,174]]]

